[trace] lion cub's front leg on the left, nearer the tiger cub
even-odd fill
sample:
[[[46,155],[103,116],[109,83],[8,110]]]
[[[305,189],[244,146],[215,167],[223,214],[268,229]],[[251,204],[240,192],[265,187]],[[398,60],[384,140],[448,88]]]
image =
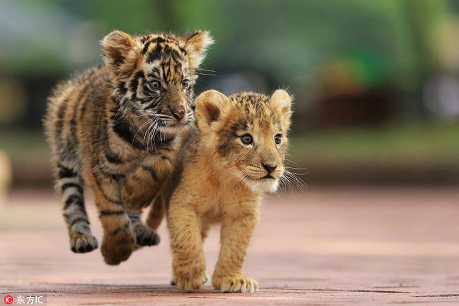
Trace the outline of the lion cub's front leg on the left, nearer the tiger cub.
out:
[[[205,283],[206,259],[196,213],[175,197],[169,207],[168,225],[172,249],[172,281],[186,292]]]

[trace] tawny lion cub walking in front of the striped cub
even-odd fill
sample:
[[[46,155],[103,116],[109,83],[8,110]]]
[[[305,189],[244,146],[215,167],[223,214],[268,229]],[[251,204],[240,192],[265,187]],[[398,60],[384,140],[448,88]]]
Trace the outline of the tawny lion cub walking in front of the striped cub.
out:
[[[192,292],[205,281],[202,249],[211,225],[221,223],[221,249],[212,284],[222,292],[255,292],[242,274],[262,195],[276,190],[284,172],[291,98],[210,90],[196,99],[198,131],[179,152],[173,173],[156,199],[166,205],[173,282]],[[158,203],[160,202],[160,203]],[[150,214],[149,224],[157,222]]]

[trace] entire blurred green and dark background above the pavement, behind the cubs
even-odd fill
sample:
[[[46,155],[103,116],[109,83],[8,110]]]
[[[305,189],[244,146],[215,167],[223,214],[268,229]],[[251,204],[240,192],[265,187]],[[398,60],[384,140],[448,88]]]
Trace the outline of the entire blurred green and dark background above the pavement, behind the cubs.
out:
[[[46,96],[101,63],[99,41],[207,29],[197,93],[295,95],[291,160],[308,183],[459,179],[459,1],[0,2],[0,143],[16,186],[49,184]]]

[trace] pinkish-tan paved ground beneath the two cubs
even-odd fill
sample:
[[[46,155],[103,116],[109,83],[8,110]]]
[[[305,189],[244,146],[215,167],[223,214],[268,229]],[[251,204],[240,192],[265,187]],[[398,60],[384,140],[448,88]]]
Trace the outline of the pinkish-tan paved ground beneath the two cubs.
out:
[[[109,267],[99,250],[68,250],[53,194],[14,192],[0,207],[0,301],[21,294],[46,295],[48,305],[459,305],[459,189],[310,188],[265,202],[245,265],[261,291],[220,294],[205,285],[184,294],[167,285],[164,226],[160,246]],[[209,273],[217,238],[206,245]]]

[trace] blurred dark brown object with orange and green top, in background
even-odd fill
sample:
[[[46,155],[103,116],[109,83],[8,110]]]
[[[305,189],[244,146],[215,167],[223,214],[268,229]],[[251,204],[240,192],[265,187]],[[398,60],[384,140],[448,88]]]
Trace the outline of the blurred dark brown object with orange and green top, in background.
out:
[[[310,120],[315,126],[378,126],[395,119],[398,87],[391,84],[388,61],[377,53],[361,49],[328,59],[317,71]]]

